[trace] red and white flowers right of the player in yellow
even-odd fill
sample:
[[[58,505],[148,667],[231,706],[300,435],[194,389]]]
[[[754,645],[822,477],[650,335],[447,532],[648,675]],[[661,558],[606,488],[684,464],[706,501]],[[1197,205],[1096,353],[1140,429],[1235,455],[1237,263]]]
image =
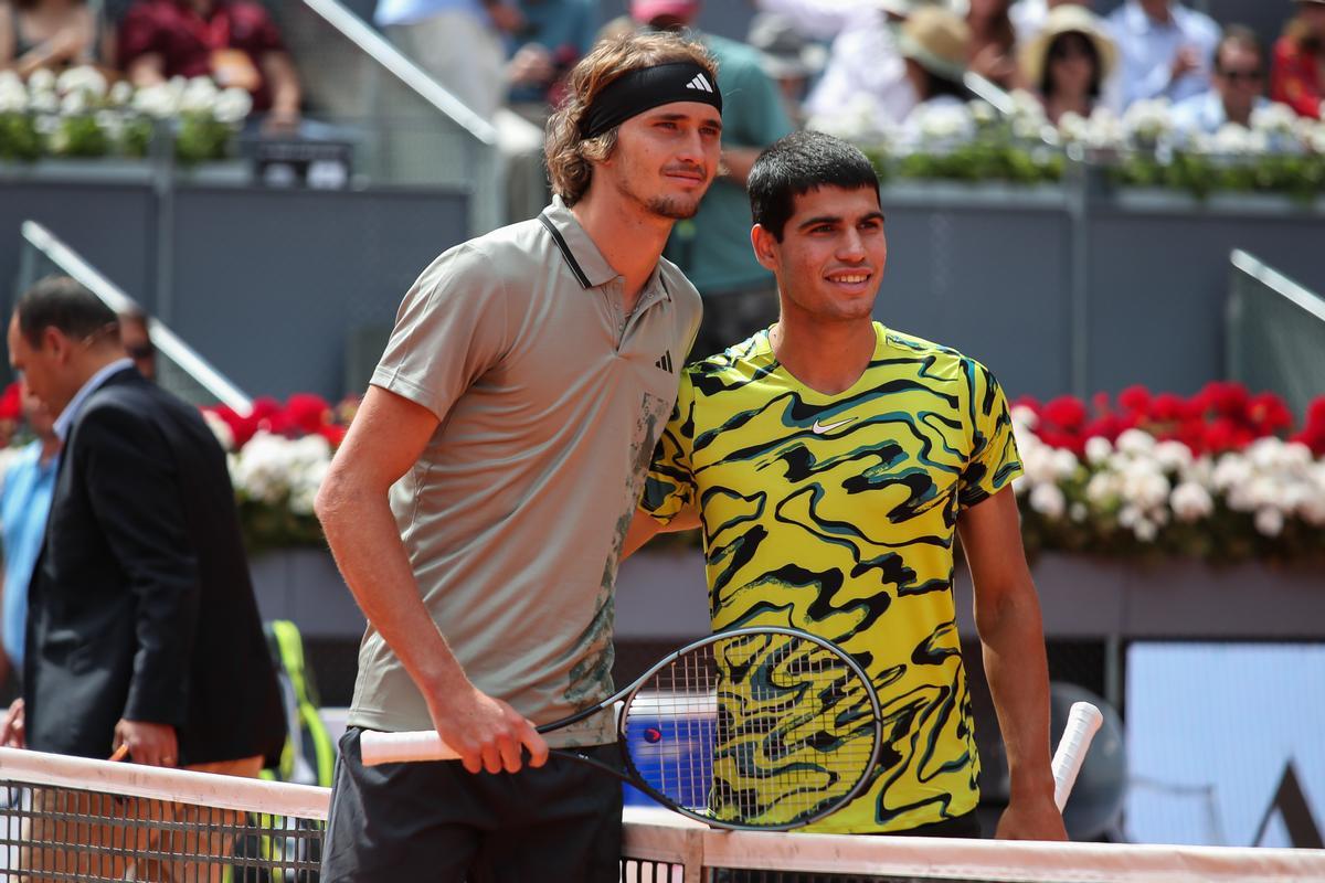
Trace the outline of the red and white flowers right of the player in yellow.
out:
[[[1293,432],[1273,395],[1134,387],[1012,409],[1030,552],[1214,561],[1325,556],[1325,397]]]

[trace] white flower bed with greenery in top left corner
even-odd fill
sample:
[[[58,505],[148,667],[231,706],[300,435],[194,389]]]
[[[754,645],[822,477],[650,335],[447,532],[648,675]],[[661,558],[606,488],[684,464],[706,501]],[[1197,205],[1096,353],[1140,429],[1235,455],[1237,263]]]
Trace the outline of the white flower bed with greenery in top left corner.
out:
[[[140,159],[158,130],[174,136],[182,163],[224,159],[252,106],[246,91],[217,89],[208,77],[134,89],[95,68],[38,70],[26,83],[0,71],[0,160]]]

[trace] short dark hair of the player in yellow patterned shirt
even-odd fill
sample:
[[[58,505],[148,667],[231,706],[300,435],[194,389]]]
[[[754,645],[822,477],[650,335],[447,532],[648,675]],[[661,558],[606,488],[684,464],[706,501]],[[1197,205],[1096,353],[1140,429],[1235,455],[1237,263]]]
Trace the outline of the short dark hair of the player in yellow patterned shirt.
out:
[[[780,242],[798,196],[820,187],[873,188],[878,173],[855,144],[816,131],[792,132],[768,146],[750,168],[750,213]]]

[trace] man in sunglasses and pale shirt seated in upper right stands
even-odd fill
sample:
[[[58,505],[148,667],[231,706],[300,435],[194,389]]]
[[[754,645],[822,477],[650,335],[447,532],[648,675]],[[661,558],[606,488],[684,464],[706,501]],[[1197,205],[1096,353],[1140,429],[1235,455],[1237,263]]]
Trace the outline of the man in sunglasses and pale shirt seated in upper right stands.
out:
[[[1214,87],[1173,109],[1179,131],[1214,135],[1226,123],[1251,126],[1252,111],[1269,105],[1265,98],[1265,53],[1260,40],[1242,25],[1230,25],[1215,49]]]

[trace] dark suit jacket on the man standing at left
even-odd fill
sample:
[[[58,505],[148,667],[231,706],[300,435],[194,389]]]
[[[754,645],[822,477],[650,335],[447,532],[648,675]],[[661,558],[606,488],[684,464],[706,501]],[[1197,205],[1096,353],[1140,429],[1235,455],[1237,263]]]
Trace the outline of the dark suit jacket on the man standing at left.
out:
[[[107,757],[127,718],[174,725],[180,765],[281,752],[225,454],[195,408],[132,368],[85,400],[65,440],[24,699],[36,751]]]

